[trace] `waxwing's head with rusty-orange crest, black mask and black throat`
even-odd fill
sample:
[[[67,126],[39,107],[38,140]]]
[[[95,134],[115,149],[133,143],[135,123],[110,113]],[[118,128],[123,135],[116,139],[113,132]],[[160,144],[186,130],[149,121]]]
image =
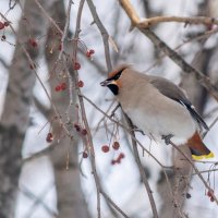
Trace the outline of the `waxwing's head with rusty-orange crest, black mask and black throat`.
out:
[[[101,86],[107,86],[113,95],[119,94],[119,89],[122,87],[122,74],[126,69],[130,69],[131,65],[122,64],[117,68],[114,71],[109,73],[109,76],[106,81],[100,83]]]

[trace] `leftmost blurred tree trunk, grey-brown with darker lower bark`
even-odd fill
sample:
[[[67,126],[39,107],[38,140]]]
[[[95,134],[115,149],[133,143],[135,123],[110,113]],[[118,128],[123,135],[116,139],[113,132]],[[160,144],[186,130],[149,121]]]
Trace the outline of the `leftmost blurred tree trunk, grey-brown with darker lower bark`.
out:
[[[44,8],[48,11],[52,0],[45,1]],[[16,47],[9,70],[9,84],[5,102],[0,122],[0,217],[14,217],[14,205],[19,185],[19,175],[22,167],[21,149],[25,132],[29,125],[29,106],[33,97],[35,74],[22,50],[21,44],[27,49],[33,61],[39,55],[39,47],[33,47],[28,40],[46,34],[46,19],[36,10],[34,0],[28,0],[24,7],[24,16],[21,17]],[[29,36],[31,33],[31,36]]]

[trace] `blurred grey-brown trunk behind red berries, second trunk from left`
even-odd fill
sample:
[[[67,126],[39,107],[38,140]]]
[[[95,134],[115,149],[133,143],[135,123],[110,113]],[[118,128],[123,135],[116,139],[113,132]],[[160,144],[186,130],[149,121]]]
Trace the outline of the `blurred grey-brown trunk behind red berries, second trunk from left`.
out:
[[[57,21],[60,25],[60,28],[63,29],[65,23],[65,12],[63,1],[58,1],[52,8],[52,19]],[[59,73],[63,72],[63,69],[60,68],[58,71],[55,71],[56,61],[58,60],[59,55],[59,45],[60,38],[53,34],[53,28],[50,28],[48,38],[47,38],[47,51],[46,60],[48,63],[48,69],[50,74],[53,76],[49,80],[51,86],[51,99],[56,105],[58,111],[63,117],[63,120],[66,117],[66,110],[70,104],[69,88],[64,92],[55,92],[56,86],[65,82],[68,84],[68,76],[58,77]],[[68,45],[71,47],[71,45]],[[61,81],[61,82],[60,82]],[[76,102],[75,92],[73,94],[73,105],[70,107],[69,117],[71,122],[75,118],[75,107]],[[50,116],[52,117],[52,114]],[[77,154],[77,144],[78,138],[76,135],[73,141],[69,136],[64,136],[64,131],[62,126],[53,122],[52,123],[52,133],[55,140],[60,140],[60,144],[56,146],[55,149],[50,153],[50,159],[53,165],[55,170],[55,180],[56,189],[58,195],[58,211],[60,218],[89,218],[87,205],[83,195],[81,179],[80,179],[80,167],[78,167],[78,154]],[[52,145],[51,145],[52,146]],[[69,157],[68,157],[69,155]],[[66,169],[68,166],[68,169]]]

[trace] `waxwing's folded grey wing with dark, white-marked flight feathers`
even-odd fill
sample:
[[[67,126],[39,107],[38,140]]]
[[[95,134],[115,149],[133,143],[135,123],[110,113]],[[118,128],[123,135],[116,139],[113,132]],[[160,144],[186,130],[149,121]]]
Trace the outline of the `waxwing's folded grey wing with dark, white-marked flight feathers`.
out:
[[[207,124],[201,118],[201,116],[195,111],[194,106],[187,99],[183,90],[177,86],[175,84],[171,83],[170,81],[159,77],[159,76],[148,76],[148,82],[155,86],[162,95],[171,98],[181,105],[185,106],[186,109],[190,111],[191,116],[197,121],[198,124],[203,125],[206,130],[208,130]]]

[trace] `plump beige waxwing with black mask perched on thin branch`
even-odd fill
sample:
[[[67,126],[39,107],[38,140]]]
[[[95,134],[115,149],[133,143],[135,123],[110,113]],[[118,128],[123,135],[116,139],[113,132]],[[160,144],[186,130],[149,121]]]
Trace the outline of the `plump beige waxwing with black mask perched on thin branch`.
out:
[[[186,142],[194,159],[214,157],[198,133],[199,128],[208,130],[207,124],[172,82],[122,64],[100,85],[114,94],[133,124],[145,134],[166,142]]]

